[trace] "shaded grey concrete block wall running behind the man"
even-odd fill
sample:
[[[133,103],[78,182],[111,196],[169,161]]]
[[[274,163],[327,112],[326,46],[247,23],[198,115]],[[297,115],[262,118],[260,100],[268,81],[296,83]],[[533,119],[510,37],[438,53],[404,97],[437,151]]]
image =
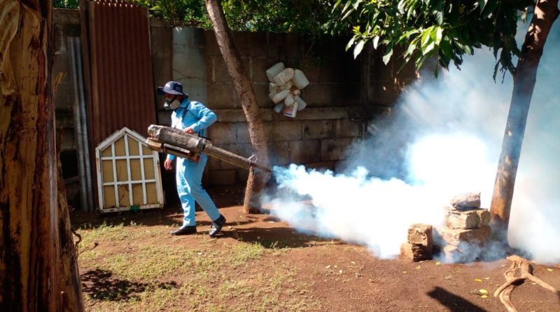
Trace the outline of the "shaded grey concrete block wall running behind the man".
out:
[[[66,50],[68,36],[80,36],[79,11],[54,10],[55,62],[53,79],[64,73],[55,93],[57,126],[64,132],[63,150],[75,151],[73,139],[73,86]],[[241,156],[253,154],[246,119],[214,32],[175,28],[151,19],[151,48],[154,91],[174,79],[181,81],[193,100],[207,104],[218,115],[209,129],[214,144]],[[384,65],[379,52],[365,49],[353,60],[344,51],[346,39],[311,41],[295,34],[234,33],[244,69],[253,82],[260,114],[265,123],[272,165],[299,163],[308,168],[335,168],[346,147],[368,135],[372,116],[395,103],[402,88],[416,79],[410,66]],[[266,69],[276,62],[301,69],[309,79],[301,96],[307,108],[295,118],[276,114],[269,100]],[[163,97],[155,97],[158,123],[170,123],[170,112],[162,109]],[[64,164],[63,164],[64,166]],[[172,183],[173,172],[165,172],[164,183]],[[243,182],[248,172],[211,159],[204,174],[205,185]],[[172,189],[172,188],[171,188]],[[173,194],[167,196],[173,198]]]

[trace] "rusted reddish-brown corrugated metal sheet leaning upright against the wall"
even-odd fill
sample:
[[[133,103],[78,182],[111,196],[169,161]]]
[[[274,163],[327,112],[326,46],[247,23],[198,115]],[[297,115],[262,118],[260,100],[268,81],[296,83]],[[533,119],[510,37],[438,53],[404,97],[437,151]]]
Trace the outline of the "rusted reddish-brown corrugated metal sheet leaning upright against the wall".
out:
[[[89,3],[92,149],[123,127],[155,123],[148,11],[122,0]]]

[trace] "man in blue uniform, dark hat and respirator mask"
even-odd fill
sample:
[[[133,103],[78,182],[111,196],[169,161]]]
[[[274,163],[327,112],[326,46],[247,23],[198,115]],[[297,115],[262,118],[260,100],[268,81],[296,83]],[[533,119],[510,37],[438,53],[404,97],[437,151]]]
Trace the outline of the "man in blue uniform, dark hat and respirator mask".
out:
[[[176,81],[169,81],[165,86],[158,87],[158,94],[165,95],[165,109],[172,109],[172,128],[184,130],[185,133],[206,136],[206,128],[216,121],[214,111],[200,102],[191,101],[183,93],[183,85]],[[164,168],[172,170],[175,156],[167,155]],[[214,201],[207,191],[202,189],[202,172],[208,156],[200,154],[195,159],[177,157],[177,193],[183,206],[183,226],[171,235],[189,235],[197,232],[195,225],[195,201],[204,209],[212,220],[209,235],[215,237],[220,233],[225,217],[218,212]]]

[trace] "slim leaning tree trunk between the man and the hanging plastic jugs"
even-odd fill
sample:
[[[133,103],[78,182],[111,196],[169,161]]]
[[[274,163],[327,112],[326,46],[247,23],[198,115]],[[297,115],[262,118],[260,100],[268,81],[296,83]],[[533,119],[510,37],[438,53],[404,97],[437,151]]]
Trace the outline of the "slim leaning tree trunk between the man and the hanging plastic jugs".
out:
[[[241,57],[234,46],[230,27],[225,20],[223,8],[220,0],[204,0],[210,20],[214,26],[216,33],[216,40],[223,55],[225,66],[228,68],[230,76],[232,76],[235,90],[241,100],[241,106],[247,118],[249,137],[258,157],[258,163],[266,167],[269,166],[267,141],[265,131],[262,126],[262,119],[259,115],[257,99],[255,97],[255,90],[253,84],[244,72]],[[265,183],[268,181],[269,173],[262,170],[249,170],[249,178],[245,190],[244,211],[256,212],[254,208],[258,208],[260,203],[258,201],[258,193],[264,188]]]

